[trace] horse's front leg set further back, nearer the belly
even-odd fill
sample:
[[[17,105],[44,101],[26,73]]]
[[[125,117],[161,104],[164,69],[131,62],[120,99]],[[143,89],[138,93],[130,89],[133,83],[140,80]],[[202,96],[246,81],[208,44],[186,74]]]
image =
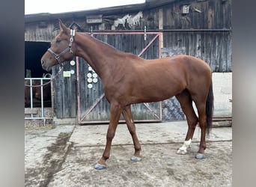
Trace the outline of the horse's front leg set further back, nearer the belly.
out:
[[[134,144],[135,153],[132,156],[132,161],[137,162],[141,160],[141,144],[139,144],[138,137],[136,134],[135,124],[132,117],[132,111],[130,105],[124,108],[123,111],[124,120],[127,122],[127,128],[129,129],[129,133],[132,135],[132,141]]]

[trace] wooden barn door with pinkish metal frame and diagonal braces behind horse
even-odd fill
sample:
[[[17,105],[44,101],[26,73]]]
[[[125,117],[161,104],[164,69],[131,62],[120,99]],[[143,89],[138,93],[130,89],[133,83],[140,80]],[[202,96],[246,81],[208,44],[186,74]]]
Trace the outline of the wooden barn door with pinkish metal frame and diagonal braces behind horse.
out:
[[[161,36],[159,32],[97,32],[94,37],[109,43],[124,52],[131,52],[142,58],[161,58]],[[127,41],[127,43],[126,43]],[[100,78],[82,58],[76,58],[77,73],[77,122],[109,123],[110,105],[103,93]],[[159,79],[161,79],[159,77]],[[156,122],[162,120],[161,102],[140,103],[131,106],[135,122]],[[124,122],[121,116],[120,122]]]

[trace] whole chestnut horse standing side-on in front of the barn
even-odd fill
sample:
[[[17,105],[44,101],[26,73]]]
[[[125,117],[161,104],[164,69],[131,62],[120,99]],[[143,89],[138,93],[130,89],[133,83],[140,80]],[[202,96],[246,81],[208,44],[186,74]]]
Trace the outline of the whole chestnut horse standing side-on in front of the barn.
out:
[[[60,32],[41,59],[44,70],[71,60],[74,56],[85,59],[100,76],[106,99],[110,103],[109,128],[106,147],[95,169],[106,168],[112,139],[123,114],[135,148],[132,161],[141,160],[141,144],[135,132],[130,105],[139,102],[159,102],[176,96],[186,115],[188,131],[178,154],[186,154],[199,122],[201,142],[195,158],[204,159],[206,134],[209,134],[213,115],[212,73],[209,65],[199,58],[176,55],[168,58],[145,60],[121,52],[88,34],[75,32],[59,21]],[[161,77],[161,79],[159,79]],[[198,117],[192,107],[195,102]]]

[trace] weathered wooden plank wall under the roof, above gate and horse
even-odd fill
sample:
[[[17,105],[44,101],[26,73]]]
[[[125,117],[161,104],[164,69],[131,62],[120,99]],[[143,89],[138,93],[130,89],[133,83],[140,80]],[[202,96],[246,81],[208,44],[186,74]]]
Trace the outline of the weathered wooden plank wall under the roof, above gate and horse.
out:
[[[160,1],[161,2],[161,1]],[[155,1],[150,1],[155,3]],[[150,7],[150,4],[146,4]],[[145,6],[146,6],[145,5]],[[189,13],[183,13],[183,6],[189,7]],[[138,10],[139,7],[137,8]],[[108,10],[102,14],[102,23],[88,24],[86,17],[63,16],[62,21],[79,31],[113,31],[115,19],[127,13],[135,16],[138,10],[111,14]],[[194,1],[162,1],[162,6],[144,8],[140,25],[129,28],[118,25],[115,31],[161,31],[164,48],[185,49],[186,55],[195,55],[207,61],[213,72],[231,72],[231,0],[194,0]],[[91,13],[91,12],[90,12]],[[79,14],[79,15],[80,15]],[[97,14],[97,13],[95,13]],[[55,15],[57,17],[57,15]],[[58,17],[61,17],[59,14]],[[50,17],[50,16],[49,16]],[[58,34],[58,19],[43,19],[38,22],[25,22],[25,40],[51,41]],[[127,40],[126,36],[122,39]],[[114,43],[114,46],[117,43]],[[139,45],[139,43],[136,43]],[[134,46],[135,43],[127,43]],[[182,50],[183,51],[183,50]]]

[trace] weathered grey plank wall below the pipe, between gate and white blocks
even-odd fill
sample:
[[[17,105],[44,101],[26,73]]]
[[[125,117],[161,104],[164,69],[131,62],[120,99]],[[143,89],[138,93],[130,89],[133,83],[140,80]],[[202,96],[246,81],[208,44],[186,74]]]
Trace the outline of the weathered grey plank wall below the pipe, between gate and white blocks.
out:
[[[185,48],[185,55],[207,61],[213,72],[232,71],[230,32],[165,32],[163,35],[165,48]]]

